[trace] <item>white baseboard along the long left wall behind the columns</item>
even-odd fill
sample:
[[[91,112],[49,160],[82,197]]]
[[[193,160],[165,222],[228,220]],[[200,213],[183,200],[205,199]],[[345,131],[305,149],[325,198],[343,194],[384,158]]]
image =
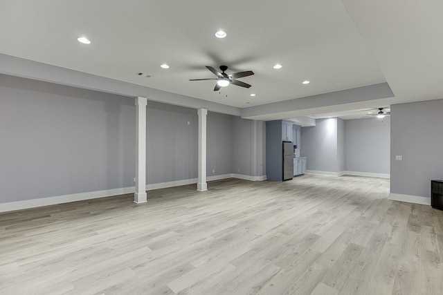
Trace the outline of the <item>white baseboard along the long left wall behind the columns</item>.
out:
[[[221,180],[221,179],[226,179],[226,178],[239,178],[239,179],[251,180],[251,181],[261,181],[261,180],[266,180],[266,175],[250,176],[250,175],[229,173],[229,174],[223,174],[223,175],[208,176],[206,179],[208,181],[213,181],[213,180]],[[170,181],[170,182],[161,182],[161,183],[147,184],[146,190],[152,191],[154,189],[165,189],[167,187],[179,187],[181,185],[195,184],[195,183],[197,183],[197,178]],[[123,187],[121,189],[106,189],[104,191],[89,191],[87,193],[73,193],[71,195],[64,195],[64,196],[54,196],[54,197],[39,198],[39,199],[33,199],[33,200],[23,200],[23,201],[17,201],[17,202],[0,203],[0,212],[15,211],[15,210],[21,210],[21,209],[35,208],[35,207],[43,207],[43,206],[49,206],[49,205],[54,205],[54,204],[77,202],[77,201],[82,201],[82,200],[106,198],[106,197],[124,195],[125,193],[134,193],[134,192],[135,192],[135,187]]]

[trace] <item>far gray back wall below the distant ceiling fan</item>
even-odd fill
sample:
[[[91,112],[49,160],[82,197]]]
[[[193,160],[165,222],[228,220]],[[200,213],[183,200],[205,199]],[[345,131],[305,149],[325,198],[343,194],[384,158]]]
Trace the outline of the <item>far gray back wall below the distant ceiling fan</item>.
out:
[[[345,170],[390,173],[390,117],[345,120]]]

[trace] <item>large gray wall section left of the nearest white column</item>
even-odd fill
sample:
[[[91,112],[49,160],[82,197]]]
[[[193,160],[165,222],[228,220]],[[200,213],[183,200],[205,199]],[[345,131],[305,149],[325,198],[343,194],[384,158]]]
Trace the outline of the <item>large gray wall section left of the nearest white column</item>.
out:
[[[0,75],[0,202],[131,187],[134,99]]]

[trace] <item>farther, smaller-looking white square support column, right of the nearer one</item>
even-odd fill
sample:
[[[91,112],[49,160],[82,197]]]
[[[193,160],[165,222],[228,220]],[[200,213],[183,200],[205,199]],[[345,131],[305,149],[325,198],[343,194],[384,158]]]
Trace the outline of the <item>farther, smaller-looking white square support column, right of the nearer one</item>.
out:
[[[199,108],[199,180],[197,182],[197,191],[207,191],[206,184],[206,108]]]

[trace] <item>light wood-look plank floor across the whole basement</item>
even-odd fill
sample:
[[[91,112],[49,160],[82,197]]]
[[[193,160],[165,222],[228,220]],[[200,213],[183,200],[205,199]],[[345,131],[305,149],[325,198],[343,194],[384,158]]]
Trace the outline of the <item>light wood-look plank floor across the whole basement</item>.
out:
[[[443,211],[389,181],[210,182],[0,214],[0,294],[443,294]]]

